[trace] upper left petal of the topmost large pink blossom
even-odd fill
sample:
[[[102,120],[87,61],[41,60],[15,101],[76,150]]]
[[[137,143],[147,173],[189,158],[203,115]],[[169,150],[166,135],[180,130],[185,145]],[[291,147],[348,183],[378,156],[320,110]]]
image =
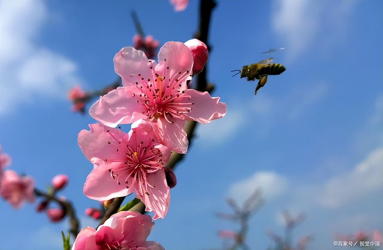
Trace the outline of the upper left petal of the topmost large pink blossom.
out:
[[[147,59],[144,52],[125,47],[121,49],[113,59],[115,71],[122,78],[123,86],[134,86],[137,77],[131,75],[141,74],[141,77],[148,79],[152,77],[150,67],[155,67],[155,61]]]

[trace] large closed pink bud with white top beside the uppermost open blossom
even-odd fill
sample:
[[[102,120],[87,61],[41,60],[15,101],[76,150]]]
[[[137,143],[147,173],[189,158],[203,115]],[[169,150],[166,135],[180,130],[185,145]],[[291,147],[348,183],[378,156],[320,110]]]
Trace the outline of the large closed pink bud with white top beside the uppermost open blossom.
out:
[[[206,44],[198,39],[191,39],[185,42],[191,54],[193,54],[193,75],[200,73],[209,59],[209,51]]]

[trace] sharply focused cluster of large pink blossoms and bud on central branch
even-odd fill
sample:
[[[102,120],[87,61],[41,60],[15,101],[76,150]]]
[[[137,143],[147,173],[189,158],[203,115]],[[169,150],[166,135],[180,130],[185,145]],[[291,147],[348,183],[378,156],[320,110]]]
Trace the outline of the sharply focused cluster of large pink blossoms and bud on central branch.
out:
[[[134,42],[138,46],[142,40],[136,37]],[[165,166],[172,151],[187,152],[185,121],[210,123],[226,114],[226,104],[219,97],[188,88],[207,59],[207,46],[196,39],[185,44],[166,42],[159,51],[158,64],[134,47],[125,47],[116,54],[115,71],[123,87],[101,96],[92,105],[89,113],[98,123],[90,124],[90,130],[82,130],[78,136],[80,149],[94,166],[83,187],[88,198],[106,201],[134,193],[146,211],[154,212],[153,219],[165,217],[170,188],[177,183],[175,174]],[[116,128],[119,124],[131,124],[131,130],[123,132],[121,127]],[[85,212],[100,216],[98,209],[88,208]],[[151,217],[140,216],[120,212],[97,231],[83,229],[73,249],[159,249],[160,245],[145,241],[150,232],[147,229],[153,225]],[[142,223],[142,229],[137,223]],[[136,235],[131,227],[140,234]]]

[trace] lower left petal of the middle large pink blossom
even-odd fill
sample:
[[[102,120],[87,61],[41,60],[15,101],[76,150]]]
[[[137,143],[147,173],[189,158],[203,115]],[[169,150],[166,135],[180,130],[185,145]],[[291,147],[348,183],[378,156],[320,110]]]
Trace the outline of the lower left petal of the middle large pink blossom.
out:
[[[125,185],[118,185],[110,176],[109,169],[123,165],[123,162],[106,162],[94,168],[85,181],[83,192],[97,201],[105,201],[116,197],[127,196],[132,191]]]

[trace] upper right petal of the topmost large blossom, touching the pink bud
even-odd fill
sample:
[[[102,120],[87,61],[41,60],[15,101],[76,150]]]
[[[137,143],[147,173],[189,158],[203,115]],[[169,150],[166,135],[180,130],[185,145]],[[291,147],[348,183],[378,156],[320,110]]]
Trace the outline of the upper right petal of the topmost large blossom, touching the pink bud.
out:
[[[191,74],[193,69],[193,55],[182,42],[166,42],[158,53],[158,62],[159,65],[155,67],[155,71],[158,71],[158,74],[161,75],[160,72],[169,67],[167,72],[170,72],[170,74],[169,77],[166,76],[169,79],[172,79],[174,75],[179,75],[178,72],[183,74],[188,71]],[[177,84],[186,83],[187,80],[191,80],[191,77],[188,76],[183,82],[178,82]],[[183,89],[181,88],[180,90],[182,91]]]

